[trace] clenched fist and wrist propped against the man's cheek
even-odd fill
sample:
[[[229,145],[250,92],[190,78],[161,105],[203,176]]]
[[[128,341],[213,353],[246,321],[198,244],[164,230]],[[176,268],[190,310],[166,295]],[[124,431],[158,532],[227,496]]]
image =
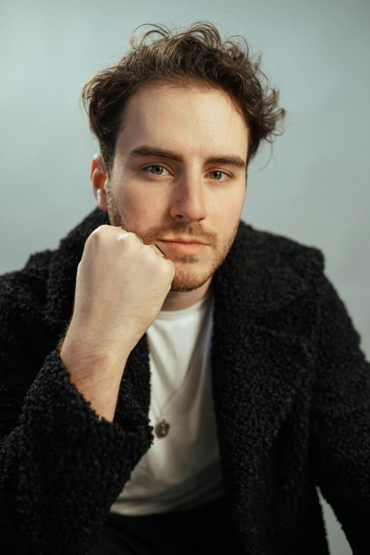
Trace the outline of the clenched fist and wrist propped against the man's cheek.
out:
[[[152,247],[112,225],[89,235],[63,348],[67,342],[69,352],[78,349],[79,360],[127,358],[157,318],[174,279],[174,263]]]

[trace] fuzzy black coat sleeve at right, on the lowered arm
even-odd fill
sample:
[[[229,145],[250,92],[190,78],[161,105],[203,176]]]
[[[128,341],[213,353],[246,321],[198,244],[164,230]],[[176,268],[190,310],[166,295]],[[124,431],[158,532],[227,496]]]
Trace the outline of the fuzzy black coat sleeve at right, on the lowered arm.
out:
[[[370,553],[370,364],[325,274],[322,285],[311,434],[315,481],[354,555],[365,555]]]

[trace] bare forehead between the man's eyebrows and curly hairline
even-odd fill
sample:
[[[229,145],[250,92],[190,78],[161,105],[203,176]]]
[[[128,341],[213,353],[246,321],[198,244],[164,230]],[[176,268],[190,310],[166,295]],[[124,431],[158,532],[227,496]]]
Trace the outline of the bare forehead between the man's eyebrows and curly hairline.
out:
[[[116,152],[142,142],[209,155],[210,150],[233,150],[245,157],[247,125],[228,94],[197,86],[142,86],[128,101]]]

